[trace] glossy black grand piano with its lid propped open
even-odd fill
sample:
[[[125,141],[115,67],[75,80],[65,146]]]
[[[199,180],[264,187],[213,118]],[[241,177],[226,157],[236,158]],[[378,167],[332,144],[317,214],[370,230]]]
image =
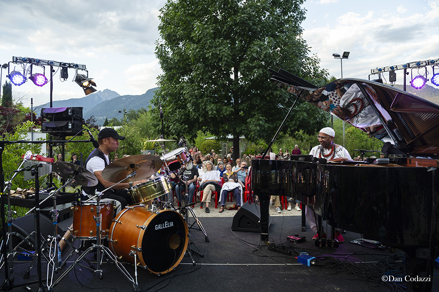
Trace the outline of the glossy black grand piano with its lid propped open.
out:
[[[381,139],[387,159],[252,160],[261,239],[268,240],[270,195],[288,195],[332,227],[403,250],[408,275],[432,275],[439,246],[439,106],[376,81],[339,79],[317,88],[282,69],[271,72],[274,84]],[[408,284],[414,291],[432,288]]]

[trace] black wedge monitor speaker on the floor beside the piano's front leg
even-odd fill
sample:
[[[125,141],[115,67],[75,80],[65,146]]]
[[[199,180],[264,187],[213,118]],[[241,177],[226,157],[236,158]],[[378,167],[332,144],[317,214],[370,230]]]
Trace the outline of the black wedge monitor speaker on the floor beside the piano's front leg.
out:
[[[273,218],[268,216],[268,226],[272,220]],[[260,207],[255,203],[244,203],[233,216],[232,230],[260,233]]]

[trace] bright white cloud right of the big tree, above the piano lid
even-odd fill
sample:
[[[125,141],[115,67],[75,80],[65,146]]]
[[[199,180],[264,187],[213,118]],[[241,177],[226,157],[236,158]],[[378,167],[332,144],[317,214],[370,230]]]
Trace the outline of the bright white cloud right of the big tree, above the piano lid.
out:
[[[367,79],[372,68],[439,58],[434,31],[438,10],[437,2],[404,17],[385,9],[347,10],[336,21],[305,28],[303,37],[330,75],[340,77],[340,61],[332,54],[350,51],[349,59],[343,60],[343,77]]]

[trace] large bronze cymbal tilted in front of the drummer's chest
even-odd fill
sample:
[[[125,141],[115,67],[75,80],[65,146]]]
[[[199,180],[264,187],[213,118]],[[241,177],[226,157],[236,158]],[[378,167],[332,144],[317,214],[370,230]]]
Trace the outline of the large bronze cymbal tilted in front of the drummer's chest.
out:
[[[102,171],[102,177],[110,182],[119,182],[133,171],[135,177],[130,177],[123,182],[132,182],[154,175],[161,168],[160,157],[154,155],[132,155],[120,158],[107,165]]]

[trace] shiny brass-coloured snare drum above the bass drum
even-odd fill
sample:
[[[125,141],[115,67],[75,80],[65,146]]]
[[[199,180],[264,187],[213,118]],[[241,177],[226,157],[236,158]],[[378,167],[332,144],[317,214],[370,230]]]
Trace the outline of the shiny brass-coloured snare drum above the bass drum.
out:
[[[134,204],[155,199],[160,195],[172,192],[171,184],[167,176],[156,176],[146,182],[137,184],[128,189]]]

